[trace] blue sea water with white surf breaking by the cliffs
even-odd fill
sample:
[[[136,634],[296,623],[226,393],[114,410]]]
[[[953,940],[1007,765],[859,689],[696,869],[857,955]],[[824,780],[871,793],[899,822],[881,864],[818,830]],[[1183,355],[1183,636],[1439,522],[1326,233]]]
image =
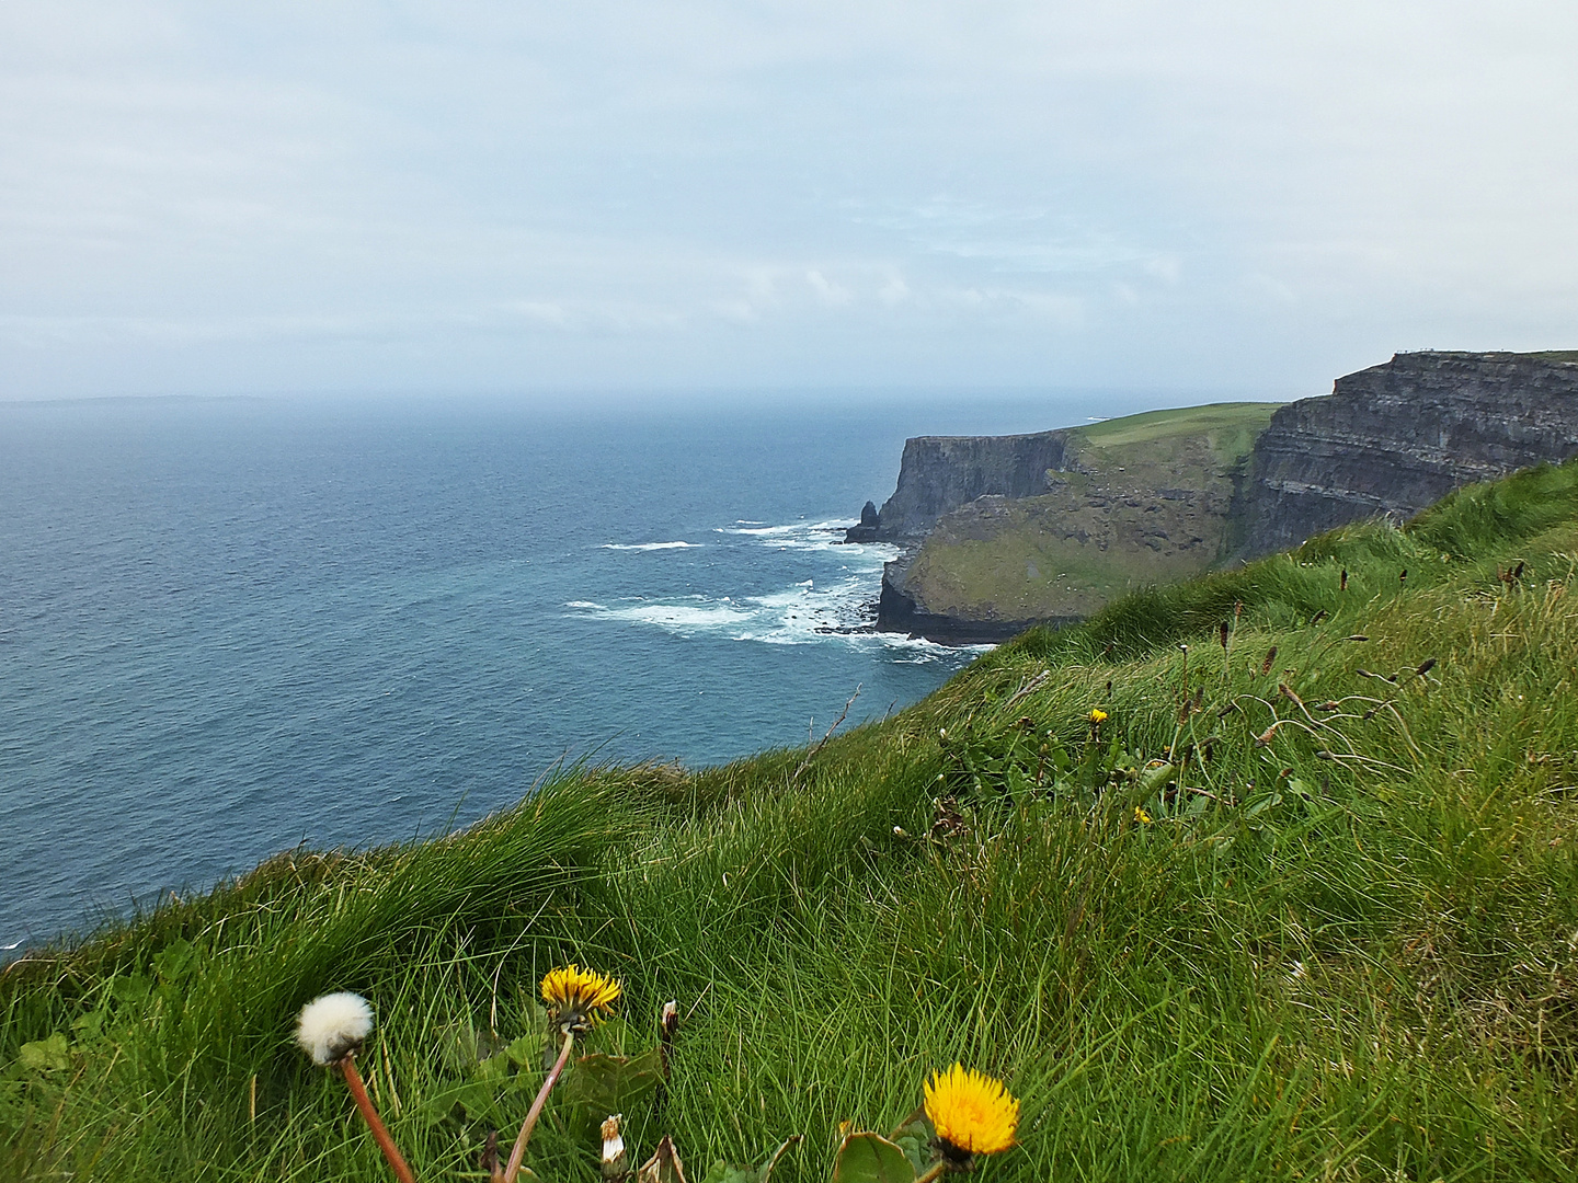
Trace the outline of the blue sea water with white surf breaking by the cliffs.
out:
[[[974,653],[857,625],[903,440],[1109,402],[0,404],[0,946],[563,759],[727,760]]]

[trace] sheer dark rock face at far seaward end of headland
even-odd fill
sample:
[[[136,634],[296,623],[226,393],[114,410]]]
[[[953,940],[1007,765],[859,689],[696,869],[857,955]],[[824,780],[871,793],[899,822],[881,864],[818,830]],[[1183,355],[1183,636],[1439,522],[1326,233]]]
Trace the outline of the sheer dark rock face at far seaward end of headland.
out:
[[[851,528],[851,543],[915,543],[936,521],[977,497],[1035,497],[1046,473],[1064,467],[1068,431],[1032,435],[920,435],[904,442],[898,487],[876,522]]]

